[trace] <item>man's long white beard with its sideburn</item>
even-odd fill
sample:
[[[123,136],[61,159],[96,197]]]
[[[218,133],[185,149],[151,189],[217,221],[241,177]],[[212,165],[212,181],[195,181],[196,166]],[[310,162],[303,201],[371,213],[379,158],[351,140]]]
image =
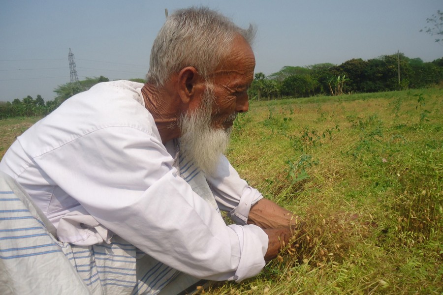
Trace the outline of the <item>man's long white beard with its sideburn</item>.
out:
[[[179,120],[182,133],[180,149],[206,174],[213,174],[220,162],[221,155],[229,144],[232,128],[221,129],[212,126],[211,111],[215,97],[205,91],[203,104],[198,110],[184,114]],[[235,118],[233,114],[230,120]]]

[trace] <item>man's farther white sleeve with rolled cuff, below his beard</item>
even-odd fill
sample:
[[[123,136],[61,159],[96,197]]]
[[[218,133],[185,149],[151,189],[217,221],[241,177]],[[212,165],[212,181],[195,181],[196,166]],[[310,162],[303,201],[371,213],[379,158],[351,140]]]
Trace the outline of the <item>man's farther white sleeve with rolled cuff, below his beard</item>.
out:
[[[217,204],[237,224],[245,225],[251,206],[263,198],[261,193],[240,178],[225,156],[216,172],[206,176]]]

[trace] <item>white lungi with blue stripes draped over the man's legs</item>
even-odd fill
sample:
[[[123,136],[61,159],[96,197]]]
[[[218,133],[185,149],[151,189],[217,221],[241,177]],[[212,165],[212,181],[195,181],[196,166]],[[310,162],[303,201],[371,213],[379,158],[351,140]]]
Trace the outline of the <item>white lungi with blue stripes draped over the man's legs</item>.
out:
[[[166,288],[177,294],[197,281],[118,236],[111,241],[58,241],[23,188],[0,172],[0,294],[158,294],[180,277]]]

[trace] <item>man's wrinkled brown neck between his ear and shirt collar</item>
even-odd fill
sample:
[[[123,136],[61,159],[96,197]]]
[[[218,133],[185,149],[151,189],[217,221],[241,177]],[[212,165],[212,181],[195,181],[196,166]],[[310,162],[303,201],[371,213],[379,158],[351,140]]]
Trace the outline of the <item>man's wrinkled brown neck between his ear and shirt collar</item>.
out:
[[[154,117],[162,143],[180,137],[178,118],[180,117],[179,100],[165,88],[157,88],[146,83],[142,88],[146,109]]]

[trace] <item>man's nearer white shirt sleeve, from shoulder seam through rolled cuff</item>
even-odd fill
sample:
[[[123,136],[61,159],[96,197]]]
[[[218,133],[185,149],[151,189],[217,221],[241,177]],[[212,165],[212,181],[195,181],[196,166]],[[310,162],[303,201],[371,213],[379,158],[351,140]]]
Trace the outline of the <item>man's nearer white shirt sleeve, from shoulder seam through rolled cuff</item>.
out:
[[[34,161],[100,224],[168,266],[239,282],[265,265],[264,231],[226,226],[144,131],[102,128]]]

